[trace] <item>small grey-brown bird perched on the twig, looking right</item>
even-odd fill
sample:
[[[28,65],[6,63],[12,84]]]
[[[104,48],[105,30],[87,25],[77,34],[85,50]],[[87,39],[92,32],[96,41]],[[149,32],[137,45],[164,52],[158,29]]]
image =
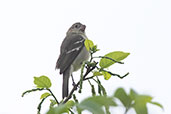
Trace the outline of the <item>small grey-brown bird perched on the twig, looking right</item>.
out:
[[[66,33],[66,37],[60,48],[60,55],[56,62],[56,68],[63,74],[62,98],[68,96],[69,77],[72,72],[81,68],[83,61],[88,60],[90,54],[84,46],[87,39],[86,26],[81,23],[73,24]]]

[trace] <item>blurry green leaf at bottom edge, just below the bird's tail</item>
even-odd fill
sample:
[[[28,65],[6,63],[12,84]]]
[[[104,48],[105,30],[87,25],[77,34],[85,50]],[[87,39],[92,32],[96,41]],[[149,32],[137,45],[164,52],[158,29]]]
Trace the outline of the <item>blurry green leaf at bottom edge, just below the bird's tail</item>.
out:
[[[74,101],[68,101],[65,104],[60,104],[57,107],[50,108],[50,110],[47,112],[47,114],[63,114],[63,113],[69,113],[69,109],[74,106]]]

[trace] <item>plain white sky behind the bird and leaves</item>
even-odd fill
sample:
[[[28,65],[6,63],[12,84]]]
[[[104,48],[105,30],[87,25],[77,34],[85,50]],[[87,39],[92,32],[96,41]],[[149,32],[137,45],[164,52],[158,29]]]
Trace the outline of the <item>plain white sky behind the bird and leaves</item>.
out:
[[[62,76],[55,64],[65,33],[75,22],[86,24],[88,38],[101,49],[97,55],[131,53],[124,65],[110,68],[130,75],[103,81],[109,95],[118,87],[127,92],[133,88],[164,106],[163,111],[148,105],[149,114],[171,114],[170,6],[170,0],[1,0],[0,114],[36,114],[41,92],[21,97],[34,88],[34,76],[49,76],[52,90],[61,98]],[[89,87],[84,87],[88,89],[80,99],[91,95]],[[123,111],[119,107],[112,113]]]

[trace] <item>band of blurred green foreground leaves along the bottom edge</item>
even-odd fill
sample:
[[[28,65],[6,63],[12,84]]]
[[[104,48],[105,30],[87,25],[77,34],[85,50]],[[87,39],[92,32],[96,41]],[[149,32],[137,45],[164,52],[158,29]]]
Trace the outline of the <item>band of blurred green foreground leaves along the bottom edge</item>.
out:
[[[133,89],[130,90],[130,93],[127,94],[123,88],[118,88],[113,97],[109,96],[92,96],[89,98],[84,99],[80,103],[72,103],[72,105],[62,104],[58,107],[52,108],[49,110],[48,114],[63,114],[64,112],[69,112],[68,107],[76,107],[77,111],[79,111],[79,114],[81,114],[82,111],[88,110],[89,112],[93,114],[110,114],[109,108],[110,107],[116,107],[118,106],[114,98],[117,98],[120,100],[120,102],[125,107],[125,114],[131,109],[134,108],[136,111],[136,114],[148,114],[147,111],[147,103],[152,102],[152,97],[148,95],[141,95],[135,93]],[[151,104],[154,104],[156,106],[159,106],[163,108],[163,106],[157,102],[152,102]],[[104,108],[105,107],[105,108]],[[105,109],[105,111],[104,111]],[[106,112],[106,113],[105,113]]]

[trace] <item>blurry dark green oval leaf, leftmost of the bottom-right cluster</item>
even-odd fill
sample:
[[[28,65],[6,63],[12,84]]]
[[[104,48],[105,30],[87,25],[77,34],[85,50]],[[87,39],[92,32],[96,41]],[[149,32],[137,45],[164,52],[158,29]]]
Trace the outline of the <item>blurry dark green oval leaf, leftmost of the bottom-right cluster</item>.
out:
[[[130,107],[132,100],[123,88],[118,88],[114,96],[118,98],[126,108]]]

